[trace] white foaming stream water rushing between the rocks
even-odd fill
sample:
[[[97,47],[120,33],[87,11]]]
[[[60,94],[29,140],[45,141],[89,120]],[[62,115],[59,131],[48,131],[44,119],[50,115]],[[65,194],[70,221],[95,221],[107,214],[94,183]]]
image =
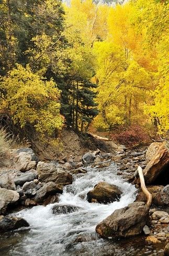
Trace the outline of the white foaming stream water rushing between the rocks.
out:
[[[120,201],[108,205],[88,203],[86,194],[99,181],[119,186],[123,192]],[[118,242],[100,239],[95,232],[95,227],[100,221],[115,209],[132,203],[135,196],[136,188],[120,179],[115,164],[111,163],[109,168],[102,170],[88,167],[86,174],[74,176],[73,184],[65,186],[59,203],[35,206],[17,213],[17,216],[29,222],[30,230],[15,232],[5,254],[0,254],[2,256],[142,255],[139,254],[140,249],[137,251],[137,248],[132,247],[131,241],[128,242],[128,250],[121,251]],[[70,214],[52,214],[52,207],[61,204],[74,205],[82,209]],[[11,238],[6,237],[7,239],[10,241]],[[76,242],[77,240],[81,242]]]

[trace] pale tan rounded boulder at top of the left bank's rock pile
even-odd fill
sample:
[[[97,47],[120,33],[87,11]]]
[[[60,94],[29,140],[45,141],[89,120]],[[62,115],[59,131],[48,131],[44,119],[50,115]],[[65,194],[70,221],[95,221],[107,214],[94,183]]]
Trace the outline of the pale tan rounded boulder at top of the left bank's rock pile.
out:
[[[27,152],[20,152],[18,153],[16,159],[15,159],[15,163],[17,168],[19,169],[19,171],[21,172],[26,172],[29,171],[31,169],[35,169],[36,168],[36,161],[32,161],[31,160],[31,154],[27,153]]]

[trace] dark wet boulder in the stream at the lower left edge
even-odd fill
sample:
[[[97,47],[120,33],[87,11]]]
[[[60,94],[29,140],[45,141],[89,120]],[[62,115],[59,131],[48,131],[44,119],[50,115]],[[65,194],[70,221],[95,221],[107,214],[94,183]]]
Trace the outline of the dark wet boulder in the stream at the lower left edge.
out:
[[[12,216],[0,216],[0,233],[21,227],[29,227],[25,219]]]

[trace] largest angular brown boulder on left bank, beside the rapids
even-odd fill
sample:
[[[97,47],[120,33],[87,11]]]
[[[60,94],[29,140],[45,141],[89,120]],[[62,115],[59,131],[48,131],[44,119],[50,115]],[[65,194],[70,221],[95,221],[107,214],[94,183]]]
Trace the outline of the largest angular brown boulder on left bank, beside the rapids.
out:
[[[58,185],[72,184],[72,174],[68,171],[64,171],[54,163],[38,162],[37,171],[39,175],[39,181],[41,182],[54,182]]]

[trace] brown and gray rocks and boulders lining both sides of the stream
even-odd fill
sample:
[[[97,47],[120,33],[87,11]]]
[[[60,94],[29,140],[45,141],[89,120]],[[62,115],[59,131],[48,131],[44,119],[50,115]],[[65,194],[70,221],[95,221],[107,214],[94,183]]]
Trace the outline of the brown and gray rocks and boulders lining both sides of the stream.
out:
[[[159,172],[159,175],[154,175],[156,177],[153,180],[154,184],[149,183],[151,185],[148,187],[153,194],[151,209],[149,210],[143,203],[146,202],[146,198],[141,190],[138,190],[136,203],[132,203],[127,208],[115,210],[111,216],[97,225],[96,231],[99,235],[108,239],[136,236],[144,233],[145,241],[148,243],[163,243],[163,247],[166,246],[165,255],[168,255],[166,253],[168,250],[167,243],[169,242],[169,185],[166,184],[167,179],[165,179],[166,164],[168,162],[165,157],[163,163],[164,154],[166,155],[167,152],[166,149],[163,149],[165,148],[164,146],[164,143],[163,145],[154,144],[147,151],[146,148],[126,149],[124,146],[115,144],[114,153],[103,153],[97,150],[88,152],[82,157],[68,155],[58,161],[53,160],[50,162],[38,161],[35,153],[29,148],[13,150],[13,164],[11,168],[2,169],[0,176],[1,232],[17,229],[21,226],[28,227],[27,221],[14,218],[9,213],[20,207],[32,207],[58,202],[59,195],[63,192],[63,187],[72,184],[74,175],[85,175],[88,164],[91,164],[99,171],[115,162],[118,166],[118,175],[121,175],[126,181],[134,182],[138,188],[139,180],[136,170],[138,165],[141,165],[143,169],[147,170],[147,173],[148,168],[153,174]],[[161,153],[159,153],[159,149]],[[160,169],[158,165],[157,171],[154,171],[156,162],[154,165],[153,163],[154,159],[157,158],[160,159],[162,167]],[[162,185],[163,175],[164,185]],[[147,176],[150,177],[148,174]],[[157,182],[158,176],[160,176],[160,184]],[[100,182],[96,184],[93,190],[87,193],[87,200],[92,204],[107,204],[118,201],[120,196],[121,191],[116,185]],[[72,209],[71,206],[70,209]],[[133,212],[133,215],[129,221],[131,212]],[[130,229],[130,227],[132,228]],[[164,254],[164,251],[162,253]]]

